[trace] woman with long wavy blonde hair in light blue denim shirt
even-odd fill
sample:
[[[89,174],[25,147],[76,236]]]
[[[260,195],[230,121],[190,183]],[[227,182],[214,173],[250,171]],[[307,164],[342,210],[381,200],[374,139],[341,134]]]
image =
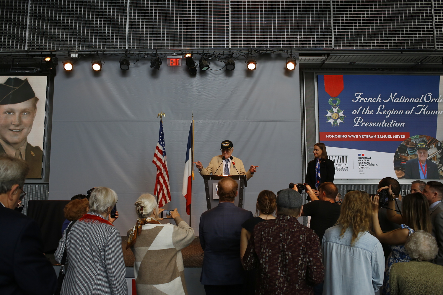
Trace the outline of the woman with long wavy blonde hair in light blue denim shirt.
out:
[[[371,235],[371,199],[366,192],[345,195],[337,224],[323,236],[323,295],[373,295],[383,285],[385,256]]]

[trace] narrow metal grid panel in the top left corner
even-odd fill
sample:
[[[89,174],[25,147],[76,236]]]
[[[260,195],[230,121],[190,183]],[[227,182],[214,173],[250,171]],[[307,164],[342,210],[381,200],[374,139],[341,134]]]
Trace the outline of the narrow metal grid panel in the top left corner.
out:
[[[0,1],[0,50],[24,50],[28,1]]]

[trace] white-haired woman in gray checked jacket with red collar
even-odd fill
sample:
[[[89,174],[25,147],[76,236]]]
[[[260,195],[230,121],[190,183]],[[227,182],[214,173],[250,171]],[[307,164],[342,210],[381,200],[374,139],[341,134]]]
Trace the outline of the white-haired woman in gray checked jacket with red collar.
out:
[[[61,295],[128,294],[120,232],[112,225],[115,218],[110,217],[116,203],[112,189],[93,188],[89,212],[63,232],[55,252],[55,259],[61,262],[66,245]]]

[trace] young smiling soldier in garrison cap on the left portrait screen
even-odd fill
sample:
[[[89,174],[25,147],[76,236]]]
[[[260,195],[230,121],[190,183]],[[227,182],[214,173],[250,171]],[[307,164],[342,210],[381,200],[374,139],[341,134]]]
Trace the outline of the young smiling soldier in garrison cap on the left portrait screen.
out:
[[[38,101],[27,79],[9,77],[0,84],[0,154],[26,161],[27,178],[42,177],[43,151],[27,141]]]

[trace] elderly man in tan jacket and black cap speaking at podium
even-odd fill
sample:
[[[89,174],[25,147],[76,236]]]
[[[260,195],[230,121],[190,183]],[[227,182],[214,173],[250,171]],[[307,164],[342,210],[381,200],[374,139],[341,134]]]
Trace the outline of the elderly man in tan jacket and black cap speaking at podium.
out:
[[[243,162],[236,157],[231,156],[234,151],[233,144],[229,140],[221,142],[221,155],[215,156],[209,162],[208,167],[203,168],[202,162],[197,161],[195,166],[201,175],[246,175],[249,180],[257,171],[258,166],[251,165],[248,171],[245,171]]]

